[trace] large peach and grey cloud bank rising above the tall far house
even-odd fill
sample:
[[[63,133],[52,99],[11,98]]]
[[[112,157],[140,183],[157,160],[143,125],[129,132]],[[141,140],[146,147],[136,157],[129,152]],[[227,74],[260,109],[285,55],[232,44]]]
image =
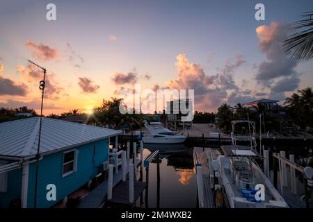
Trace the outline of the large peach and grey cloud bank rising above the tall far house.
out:
[[[177,78],[168,82],[170,89],[194,89],[195,110],[216,110],[227,101],[227,91],[236,91],[239,87],[234,82],[234,71],[246,61],[236,56],[236,61],[227,60],[217,74],[206,75],[200,65],[189,62],[186,54],[177,56]],[[158,85],[154,85],[155,88]]]

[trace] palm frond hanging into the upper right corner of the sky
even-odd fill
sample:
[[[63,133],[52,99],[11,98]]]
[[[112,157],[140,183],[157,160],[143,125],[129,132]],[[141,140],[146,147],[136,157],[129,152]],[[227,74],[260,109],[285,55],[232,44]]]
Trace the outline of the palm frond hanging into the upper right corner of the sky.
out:
[[[284,51],[290,58],[310,60],[313,58],[313,11],[304,12],[298,22],[291,25],[296,33],[282,42]]]

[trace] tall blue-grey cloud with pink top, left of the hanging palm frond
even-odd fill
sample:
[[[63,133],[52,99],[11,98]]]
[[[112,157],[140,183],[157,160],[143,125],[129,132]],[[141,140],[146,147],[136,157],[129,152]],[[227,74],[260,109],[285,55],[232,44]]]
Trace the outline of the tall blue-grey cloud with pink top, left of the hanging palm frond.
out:
[[[257,65],[255,78],[263,87],[272,93],[289,92],[298,88],[300,79],[295,70],[298,62],[285,55],[281,42],[287,38],[288,26],[283,22],[272,22],[270,26],[259,26],[256,29],[259,37],[259,49],[265,54],[266,61]],[[294,80],[291,84],[290,80]],[[289,83],[282,86],[282,83]],[[281,97],[281,96],[280,96]]]

